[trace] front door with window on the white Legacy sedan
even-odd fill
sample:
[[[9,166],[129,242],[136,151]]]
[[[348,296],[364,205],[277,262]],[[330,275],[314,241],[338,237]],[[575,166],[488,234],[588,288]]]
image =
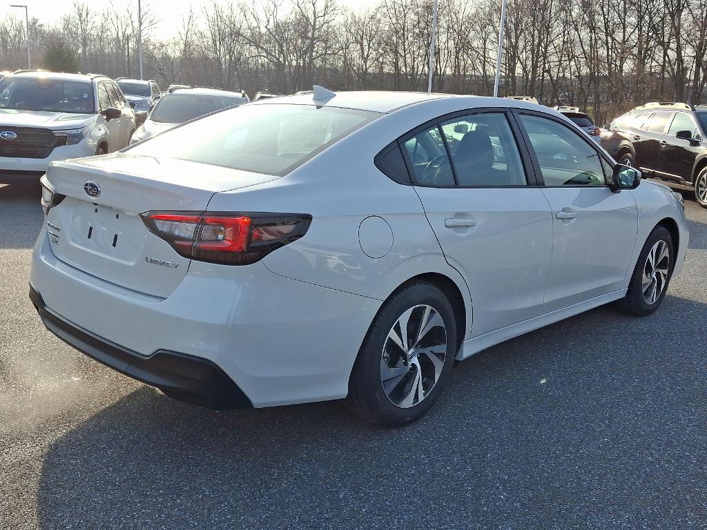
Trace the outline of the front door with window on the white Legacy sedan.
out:
[[[517,117],[552,210],[547,310],[620,289],[638,230],[633,194],[609,189],[609,161],[561,120],[532,112]]]

